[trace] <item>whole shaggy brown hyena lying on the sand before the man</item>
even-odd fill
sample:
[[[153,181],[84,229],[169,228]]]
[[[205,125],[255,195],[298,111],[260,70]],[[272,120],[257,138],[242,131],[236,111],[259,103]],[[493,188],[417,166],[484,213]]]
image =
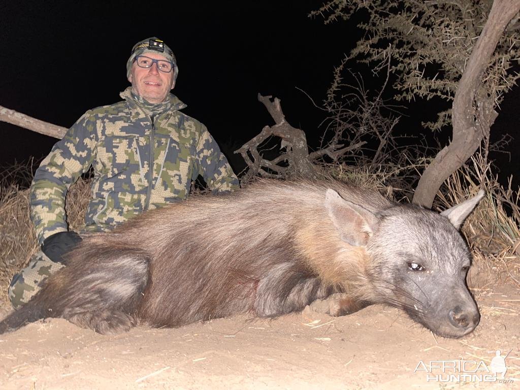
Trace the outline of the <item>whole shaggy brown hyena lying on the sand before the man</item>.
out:
[[[192,198],[85,237],[0,332],[46,317],[99,333],[139,321],[274,317],[342,293],[333,314],[384,303],[437,334],[462,336],[479,313],[458,228],[482,196],[441,214],[333,180],[259,180]]]

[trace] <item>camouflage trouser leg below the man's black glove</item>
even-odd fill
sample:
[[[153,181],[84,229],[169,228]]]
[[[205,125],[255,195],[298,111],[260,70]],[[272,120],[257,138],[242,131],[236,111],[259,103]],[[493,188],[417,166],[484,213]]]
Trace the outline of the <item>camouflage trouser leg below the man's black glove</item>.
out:
[[[63,264],[51,261],[42,251],[35,253],[29,265],[12,277],[8,290],[12,306],[18,309],[29,302],[40,290],[41,283],[61,267]]]

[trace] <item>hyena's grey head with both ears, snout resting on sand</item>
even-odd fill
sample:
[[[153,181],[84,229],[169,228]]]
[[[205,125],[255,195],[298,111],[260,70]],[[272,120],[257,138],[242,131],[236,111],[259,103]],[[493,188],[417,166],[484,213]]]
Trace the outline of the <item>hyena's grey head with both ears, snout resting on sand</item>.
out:
[[[366,248],[373,303],[400,307],[433,332],[460,337],[480,315],[466,285],[471,255],[458,230],[483,196],[441,214],[413,205],[374,214],[328,190],[326,207],[342,240]]]

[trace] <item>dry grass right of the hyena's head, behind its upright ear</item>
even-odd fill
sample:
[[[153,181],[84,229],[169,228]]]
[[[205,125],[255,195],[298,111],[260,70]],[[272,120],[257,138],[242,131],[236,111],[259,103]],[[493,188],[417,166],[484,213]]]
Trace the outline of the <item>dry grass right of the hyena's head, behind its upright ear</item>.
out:
[[[478,284],[511,282],[520,287],[520,198],[511,180],[507,188],[501,186],[490,164],[475,154],[445,181],[434,207],[447,209],[479,189],[486,196],[462,227],[479,270]]]

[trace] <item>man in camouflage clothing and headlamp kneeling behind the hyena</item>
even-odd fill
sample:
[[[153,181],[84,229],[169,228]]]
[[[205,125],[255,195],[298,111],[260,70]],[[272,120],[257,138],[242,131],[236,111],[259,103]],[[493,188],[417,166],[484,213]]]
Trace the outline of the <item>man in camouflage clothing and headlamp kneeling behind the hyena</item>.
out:
[[[18,308],[38,285],[66,265],[62,257],[81,241],[68,230],[65,197],[92,165],[92,199],[85,231],[106,231],[135,215],[188,197],[202,175],[214,191],[239,183],[218,145],[170,90],[178,68],[173,51],[156,37],[137,43],[126,63],[132,84],[124,101],[87,111],[36,170],[31,219],[42,251],[12,278],[9,298]]]

